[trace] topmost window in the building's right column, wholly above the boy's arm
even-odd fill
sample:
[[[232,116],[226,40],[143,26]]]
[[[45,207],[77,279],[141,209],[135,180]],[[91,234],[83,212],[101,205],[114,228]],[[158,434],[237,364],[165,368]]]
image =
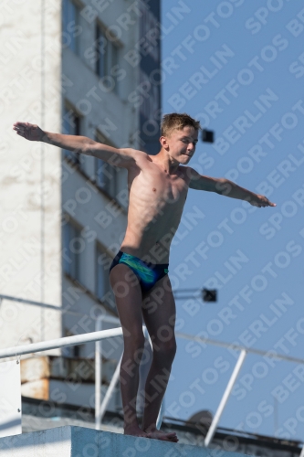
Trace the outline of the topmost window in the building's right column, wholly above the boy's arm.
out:
[[[106,32],[100,24],[96,26],[96,73],[103,79],[107,89],[118,93],[118,63],[120,49],[110,33]]]

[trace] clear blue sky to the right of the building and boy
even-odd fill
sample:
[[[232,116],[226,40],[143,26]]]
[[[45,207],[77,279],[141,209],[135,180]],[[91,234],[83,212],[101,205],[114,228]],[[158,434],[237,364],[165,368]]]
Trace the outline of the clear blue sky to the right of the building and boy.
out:
[[[215,131],[189,165],[277,203],[189,191],[170,274],[176,289],[216,288],[218,301],[178,300],[177,329],[304,358],[303,5],[166,0],[162,25],[162,111]],[[165,415],[215,413],[235,364],[179,339]],[[300,440],[303,367],[248,355],[220,425]]]

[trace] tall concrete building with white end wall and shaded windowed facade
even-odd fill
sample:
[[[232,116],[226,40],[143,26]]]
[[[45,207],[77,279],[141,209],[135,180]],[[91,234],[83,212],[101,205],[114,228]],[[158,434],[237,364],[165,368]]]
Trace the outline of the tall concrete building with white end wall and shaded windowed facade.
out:
[[[151,82],[150,73],[160,68],[159,14],[158,1],[152,7],[134,0],[3,7],[0,294],[60,311],[3,300],[2,347],[91,332],[98,315],[117,315],[108,271],[127,223],[126,170],[27,142],[12,124],[37,123],[49,132],[154,154],[160,82],[156,72]],[[105,383],[121,350],[120,338],[103,345]],[[94,376],[77,373],[93,351],[93,344],[50,351],[36,370],[27,361],[24,395],[92,407]],[[110,408],[120,401],[117,395]]]

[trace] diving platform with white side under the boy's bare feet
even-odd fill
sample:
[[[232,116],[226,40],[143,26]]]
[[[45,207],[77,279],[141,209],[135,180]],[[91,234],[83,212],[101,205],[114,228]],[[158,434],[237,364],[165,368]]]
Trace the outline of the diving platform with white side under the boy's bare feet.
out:
[[[218,449],[65,426],[0,439],[1,457],[213,457]],[[225,452],[221,457],[246,454]]]

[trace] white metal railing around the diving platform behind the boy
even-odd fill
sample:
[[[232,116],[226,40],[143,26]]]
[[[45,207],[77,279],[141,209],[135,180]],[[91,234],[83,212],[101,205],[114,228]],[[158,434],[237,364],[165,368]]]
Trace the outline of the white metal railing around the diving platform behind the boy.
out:
[[[2,298],[7,298],[8,300],[14,300],[14,297],[8,297],[8,296],[4,296],[4,295],[1,295],[0,294],[0,300]],[[19,300],[20,301],[20,300]],[[30,302],[28,301],[29,304],[37,304],[38,303],[33,303],[33,302]],[[26,303],[26,300],[23,300],[23,303]],[[43,305],[45,305],[45,303],[42,303]],[[48,306],[48,305],[47,305]],[[50,306],[53,306],[53,305],[50,305]],[[60,308],[58,308],[57,311],[60,311]],[[114,318],[114,317],[110,317],[110,316],[106,316],[106,315],[103,315],[103,316],[99,316],[97,318],[97,322],[96,322],[96,328],[101,328],[102,326],[102,321],[108,321],[110,323],[119,323],[120,321],[117,319],[117,318]],[[148,335],[148,332],[147,332],[147,329],[146,327],[143,325],[142,326],[142,329],[143,329],[143,332],[144,332],[144,335],[146,337],[149,337]],[[40,352],[40,351],[47,351],[49,349],[56,349],[56,348],[59,348],[59,347],[66,347],[68,345],[79,345],[79,344],[83,344],[83,343],[90,343],[90,342],[99,342],[98,344],[96,344],[95,346],[95,367],[96,367],[96,378],[95,378],[95,383],[96,383],[96,386],[95,386],[95,392],[96,392],[96,408],[95,408],[95,426],[96,427],[100,427],[100,420],[102,419],[102,416],[105,412],[105,409],[107,407],[107,404],[110,400],[110,396],[113,392],[113,389],[115,388],[115,385],[118,381],[118,378],[119,378],[119,369],[120,369],[120,365],[121,363],[119,362],[116,369],[115,369],[115,372],[114,372],[114,375],[110,381],[110,386],[108,388],[108,391],[106,393],[106,396],[105,396],[105,399],[103,399],[102,403],[100,404],[100,387],[101,387],[101,351],[100,351],[100,341],[103,340],[103,339],[106,339],[106,338],[111,338],[111,337],[114,337],[114,336],[120,336],[122,335],[122,328],[121,327],[118,327],[118,328],[110,328],[110,329],[107,329],[107,330],[98,330],[98,331],[95,331],[95,332],[91,332],[89,334],[82,334],[82,335],[73,335],[73,336],[65,336],[65,337],[62,337],[62,338],[58,338],[58,339],[55,339],[55,340],[49,340],[49,341],[43,341],[43,342],[40,342],[40,343],[32,343],[32,344],[29,344],[29,345],[17,345],[15,347],[10,347],[10,348],[5,348],[5,349],[0,349],[0,359],[1,358],[5,358],[5,357],[11,357],[11,356],[23,356],[25,354],[32,354],[32,353],[37,353],[37,352]],[[183,338],[183,339],[187,339],[187,340],[191,340],[191,341],[196,341],[197,343],[201,343],[201,344],[209,344],[209,345],[217,345],[217,346],[220,346],[220,347],[225,347],[226,349],[230,349],[230,350],[236,350],[236,351],[240,351],[240,355],[238,356],[238,359],[236,361],[236,366],[233,370],[233,373],[231,375],[231,377],[229,378],[229,381],[228,381],[228,384],[225,388],[225,392],[222,396],[222,399],[219,403],[219,406],[215,412],[215,417],[214,419],[212,420],[212,423],[210,425],[210,428],[205,436],[205,439],[204,439],[204,445],[207,447],[210,442],[213,440],[213,437],[215,435],[215,430],[216,430],[216,427],[217,427],[217,424],[222,416],[222,413],[225,409],[225,405],[229,399],[229,396],[230,396],[230,393],[236,383],[236,378],[241,370],[241,368],[243,367],[243,364],[245,362],[245,359],[246,359],[246,355],[247,354],[255,354],[255,355],[258,355],[258,356],[267,356],[268,358],[273,358],[273,359],[277,359],[277,360],[285,360],[285,361],[288,361],[288,362],[294,362],[294,363],[299,363],[299,364],[302,364],[304,365],[304,359],[302,358],[299,358],[299,357],[292,357],[292,356],[285,356],[285,355],[282,355],[282,354],[278,354],[276,353],[275,351],[265,351],[265,350],[261,350],[261,349],[254,349],[252,347],[246,347],[246,346],[243,346],[243,345],[236,345],[236,344],[229,344],[229,343],[225,343],[225,342],[222,342],[222,341],[217,341],[217,340],[212,340],[212,339],[209,339],[209,338],[201,338],[199,336],[193,336],[193,335],[187,335],[187,334],[183,334],[183,333],[180,333],[180,332],[176,332],[176,337],[180,337],[180,338]],[[151,343],[151,341],[150,341]],[[158,416],[158,420],[157,420],[157,427],[160,427],[160,425],[162,424],[162,408],[159,412],[159,416]],[[303,448],[301,450],[301,453],[300,453],[300,457],[304,457],[304,445],[303,445]]]

